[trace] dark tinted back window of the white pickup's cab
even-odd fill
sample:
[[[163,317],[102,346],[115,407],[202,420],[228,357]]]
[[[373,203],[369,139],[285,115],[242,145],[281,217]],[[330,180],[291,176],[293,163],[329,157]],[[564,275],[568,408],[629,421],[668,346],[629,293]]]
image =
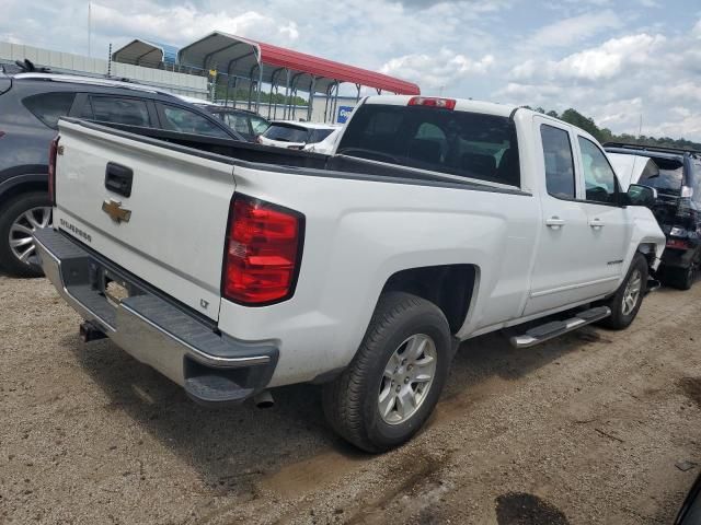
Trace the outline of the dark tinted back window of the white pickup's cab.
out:
[[[337,153],[520,185],[516,129],[508,117],[364,104],[350,120]]]

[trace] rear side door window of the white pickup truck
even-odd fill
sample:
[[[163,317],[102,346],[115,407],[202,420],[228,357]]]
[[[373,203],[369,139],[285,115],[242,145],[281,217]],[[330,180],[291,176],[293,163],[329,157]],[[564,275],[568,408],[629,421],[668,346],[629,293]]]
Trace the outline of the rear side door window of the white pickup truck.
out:
[[[570,133],[554,126],[540,126],[545,160],[548,194],[559,199],[575,198],[574,155]]]

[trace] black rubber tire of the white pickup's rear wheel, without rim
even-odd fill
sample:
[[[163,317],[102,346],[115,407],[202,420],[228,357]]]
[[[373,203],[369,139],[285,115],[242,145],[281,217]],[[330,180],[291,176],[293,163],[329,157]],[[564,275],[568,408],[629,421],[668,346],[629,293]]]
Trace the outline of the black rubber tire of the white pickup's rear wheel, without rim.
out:
[[[415,412],[405,421],[390,424],[378,407],[384,369],[403,341],[418,335],[426,335],[434,342],[433,382]],[[450,328],[435,304],[404,292],[382,294],[355,358],[341,376],[324,385],[323,405],[329,423],[366,452],[379,453],[405,443],[438,402],[451,357]]]

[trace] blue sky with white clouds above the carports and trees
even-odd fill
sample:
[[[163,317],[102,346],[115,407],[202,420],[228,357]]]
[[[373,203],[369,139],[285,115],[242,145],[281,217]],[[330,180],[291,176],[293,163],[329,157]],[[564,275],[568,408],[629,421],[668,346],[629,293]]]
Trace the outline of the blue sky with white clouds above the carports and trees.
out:
[[[0,40],[87,52],[87,2],[4,0]],[[93,55],[212,30],[376,69],[426,94],[575,107],[616,132],[701,140],[701,2],[102,0]]]

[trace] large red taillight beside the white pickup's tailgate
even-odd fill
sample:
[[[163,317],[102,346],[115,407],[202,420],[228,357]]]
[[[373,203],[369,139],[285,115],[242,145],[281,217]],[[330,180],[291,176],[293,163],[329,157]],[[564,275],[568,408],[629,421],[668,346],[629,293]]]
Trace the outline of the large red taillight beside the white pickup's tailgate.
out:
[[[246,305],[289,299],[301,259],[304,218],[251,197],[234,195],[229,211],[222,295]]]

